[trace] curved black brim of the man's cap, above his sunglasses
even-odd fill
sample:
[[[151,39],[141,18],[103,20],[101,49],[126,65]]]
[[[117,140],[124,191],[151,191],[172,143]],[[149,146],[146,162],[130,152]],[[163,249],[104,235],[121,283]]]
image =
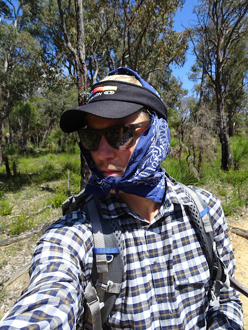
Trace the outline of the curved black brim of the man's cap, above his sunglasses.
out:
[[[92,102],[65,111],[60,118],[60,127],[65,133],[71,133],[86,125],[84,119],[87,113],[102,118],[117,119],[129,116],[143,107],[142,104],[117,100]]]

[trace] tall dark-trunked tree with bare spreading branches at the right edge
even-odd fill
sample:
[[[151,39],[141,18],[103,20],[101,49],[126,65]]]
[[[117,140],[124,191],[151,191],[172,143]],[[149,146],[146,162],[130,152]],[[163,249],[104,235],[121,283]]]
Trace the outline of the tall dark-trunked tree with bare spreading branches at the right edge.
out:
[[[224,68],[245,36],[247,11],[248,3],[244,0],[204,0],[195,10],[197,26],[193,31],[188,29],[196,58],[202,63],[215,91],[223,170],[234,165],[224,110],[227,84],[223,82],[228,79],[224,77]],[[240,61],[233,70],[238,68]]]

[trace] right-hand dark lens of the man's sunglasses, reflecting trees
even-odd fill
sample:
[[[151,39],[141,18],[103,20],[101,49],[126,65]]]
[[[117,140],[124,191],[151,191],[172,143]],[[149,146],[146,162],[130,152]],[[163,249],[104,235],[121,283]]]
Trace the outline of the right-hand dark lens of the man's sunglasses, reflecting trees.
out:
[[[106,138],[110,145],[115,148],[130,148],[134,145],[134,135],[127,127],[110,127],[106,131]]]

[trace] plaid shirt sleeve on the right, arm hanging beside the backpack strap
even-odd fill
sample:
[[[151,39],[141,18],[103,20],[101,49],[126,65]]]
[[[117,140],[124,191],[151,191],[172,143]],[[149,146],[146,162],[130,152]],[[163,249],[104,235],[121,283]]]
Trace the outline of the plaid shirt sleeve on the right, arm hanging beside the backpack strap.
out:
[[[209,213],[212,218],[214,241],[220,259],[226,266],[228,274],[234,277],[235,260],[233,250],[228,237],[227,223],[219,200],[208,192],[197,189],[204,201],[208,204]],[[207,329],[243,330],[242,303],[238,292],[222,287],[220,289],[220,306],[209,307]]]

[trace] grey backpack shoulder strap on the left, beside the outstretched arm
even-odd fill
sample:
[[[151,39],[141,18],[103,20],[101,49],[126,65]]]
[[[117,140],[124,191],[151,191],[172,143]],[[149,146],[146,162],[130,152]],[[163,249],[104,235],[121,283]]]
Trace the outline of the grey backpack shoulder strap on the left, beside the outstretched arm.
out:
[[[96,197],[86,199],[94,248],[91,279],[85,288],[84,328],[102,329],[120,292],[123,261],[114,232],[100,214]]]

